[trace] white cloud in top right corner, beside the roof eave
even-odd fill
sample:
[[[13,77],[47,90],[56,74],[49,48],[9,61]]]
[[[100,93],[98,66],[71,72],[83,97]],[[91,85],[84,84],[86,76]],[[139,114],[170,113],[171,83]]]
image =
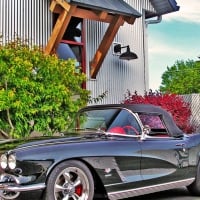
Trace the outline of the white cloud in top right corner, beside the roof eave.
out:
[[[178,12],[164,15],[164,20],[176,20],[200,24],[199,0],[176,0],[176,2],[177,5],[180,6],[180,10]]]

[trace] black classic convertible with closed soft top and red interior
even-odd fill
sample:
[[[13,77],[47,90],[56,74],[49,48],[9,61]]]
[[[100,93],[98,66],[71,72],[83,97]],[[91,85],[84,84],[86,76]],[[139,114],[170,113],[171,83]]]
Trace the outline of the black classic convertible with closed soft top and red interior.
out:
[[[72,134],[0,144],[0,198],[124,199],[178,187],[200,195],[200,134],[153,105],[95,105]]]

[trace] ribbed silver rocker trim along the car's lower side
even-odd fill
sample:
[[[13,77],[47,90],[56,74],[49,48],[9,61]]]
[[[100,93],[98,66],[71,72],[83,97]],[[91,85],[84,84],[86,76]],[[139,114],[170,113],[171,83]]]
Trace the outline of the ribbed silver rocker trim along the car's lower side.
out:
[[[179,188],[182,186],[188,186],[194,180],[195,180],[195,178],[190,178],[190,179],[174,181],[174,182],[169,182],[169,183],[164,183],[164,184],[136,188],[136,189],[110,192],[110,193],[108,193],[108,197],[110,200],[117,200],[117,199],[124,199],[124,198],[128,198],[128,197],[140,196],[140,195],[144,195],[144,194],[160,192],[160,191],[169,190],[169,189],[173,189],[173,188]]]

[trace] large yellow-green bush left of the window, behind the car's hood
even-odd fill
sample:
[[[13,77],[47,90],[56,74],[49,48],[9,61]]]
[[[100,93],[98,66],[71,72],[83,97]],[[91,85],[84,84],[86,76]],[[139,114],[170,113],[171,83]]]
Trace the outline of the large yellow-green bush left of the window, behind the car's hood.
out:
[[[70,127],[89,92],[75,73],[74,60],[44,55],[19,39],[0,45],[0,131],[25,137],[32,131],[53,134]]]

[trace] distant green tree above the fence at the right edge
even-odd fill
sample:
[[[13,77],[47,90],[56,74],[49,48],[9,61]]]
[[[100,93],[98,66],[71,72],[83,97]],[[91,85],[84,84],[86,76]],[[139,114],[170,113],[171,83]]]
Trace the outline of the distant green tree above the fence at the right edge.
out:
[[[200,93],[200,62],[177,61],[162,75],[161,92],[175,94]]]

